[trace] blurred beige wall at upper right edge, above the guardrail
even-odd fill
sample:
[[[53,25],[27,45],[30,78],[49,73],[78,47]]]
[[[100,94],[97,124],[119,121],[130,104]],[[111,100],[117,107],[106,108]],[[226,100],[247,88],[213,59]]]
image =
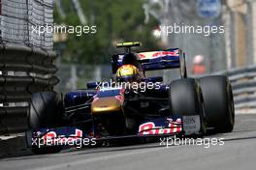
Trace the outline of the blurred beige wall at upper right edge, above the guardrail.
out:
[[[256,63],[256,1],[226,0],[230,14],[229,39],[226,48],[231,53],[232,68],[245,67]]]

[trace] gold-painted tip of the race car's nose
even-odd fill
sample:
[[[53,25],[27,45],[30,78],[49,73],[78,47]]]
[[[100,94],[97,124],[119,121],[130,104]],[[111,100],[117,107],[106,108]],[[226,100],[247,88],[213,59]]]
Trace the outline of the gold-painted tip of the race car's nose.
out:
[[[114,112],[120,109],[121,103],[114,97],[95,99],[91,104],[92,114]]]

